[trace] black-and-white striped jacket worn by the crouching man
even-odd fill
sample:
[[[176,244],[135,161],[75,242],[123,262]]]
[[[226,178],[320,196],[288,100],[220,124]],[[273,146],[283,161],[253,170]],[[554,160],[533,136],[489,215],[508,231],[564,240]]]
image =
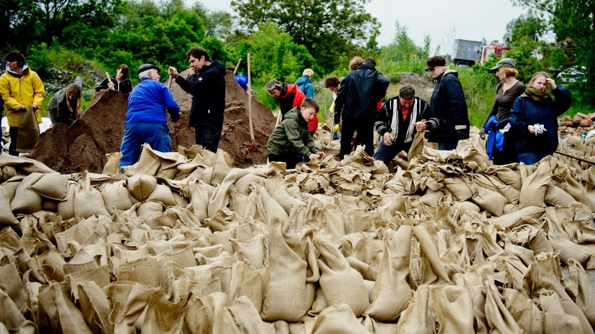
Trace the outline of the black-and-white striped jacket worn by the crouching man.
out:
[[[415,122],[421,121],[428,112],[428,104],[419,97],[414,98],[409,114],[403,121],[399,96],[392,97],[380,108],[374,127],[380,136],[390,132],[398,143],[409,143],[415,137]]]

